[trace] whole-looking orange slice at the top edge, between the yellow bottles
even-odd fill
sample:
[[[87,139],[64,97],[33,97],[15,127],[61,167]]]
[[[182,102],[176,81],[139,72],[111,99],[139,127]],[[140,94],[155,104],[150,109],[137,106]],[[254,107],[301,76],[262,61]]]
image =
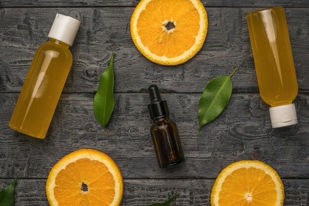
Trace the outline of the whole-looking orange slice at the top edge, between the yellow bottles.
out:
[[[131,36],[150,61],[178,65],[202,48],[207,26],[200,0],[141,0],[131,18]]]

